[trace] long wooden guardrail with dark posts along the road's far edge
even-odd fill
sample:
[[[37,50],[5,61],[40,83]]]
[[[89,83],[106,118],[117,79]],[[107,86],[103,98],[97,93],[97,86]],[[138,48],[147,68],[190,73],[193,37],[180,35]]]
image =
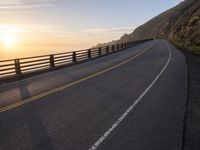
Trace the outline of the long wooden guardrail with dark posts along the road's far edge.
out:
[[[0,78],[81,62],[87,59],[107,55],[125,48],[129,48],[134,46],[136,43],[144,41],[147,40],[117,43],[114,45],[66,53],[0,60]]]

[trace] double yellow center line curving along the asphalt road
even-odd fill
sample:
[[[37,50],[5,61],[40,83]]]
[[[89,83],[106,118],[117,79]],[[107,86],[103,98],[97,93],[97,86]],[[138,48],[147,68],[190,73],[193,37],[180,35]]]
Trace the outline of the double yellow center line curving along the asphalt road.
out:
[[[152,46],[153,46],[153,45],[152,45]],[[112,66],[112,67],[108,67],[108,68],[106,68],[106,69],[104,69],[104,70],[102,70],[102,71],[96,72],[96,73],[91,74],[91,75],[89,75],[89,76],[86,76],[86,77],[84,77],[84,78],[82,78],[82,79],[73,81],[73,82],[71,82],[71,83],[65,84],[65,85],[60,86],[60,87],[58,87],[58,88],[55,88],[55,89],[46,91],[46,92],[44,92],[44,93],[38,94],[38,95],[33,96],[33,97],[30,97],[30,98],[28,98],[28,99],[21,100],[21,101],[19,101],[19,102],[14,103],[14,104],[10,104],[10,105],[8,105],[8,106],[2,107],[2,108],[0,108],[0,112],[5,112],[5,111],[7,111],[7,110],[10,110],[10,109],[12,109],[12,108],[15,108],[15,107],[24,105],[24,104],[26,104],[26,103],[29,103],[29,102],[32,102],[32,101],[35,101],[35,100],[39,100],[40,98],[43,98],[43,97],[48,96],[48,95],[53,94],[53,93],[57,93],[57,92],[59,92],[59,91],[62,91],[62,90],[64,90],[64,89],[67,89],[67,88],[69,88],[69,87],[71,87],[71,86],[73,86],[73,85],[79,84],[79,83],[81,83],[81,82],[83,82],[83,81],[89,80],[89,79],[94,78],[94,77],[96,77],[96,76],[99,76],[99,75],[101,75],[101,74],[103,74],[103,73],[106,73],[106,72],[108,72],[108,71],[111,71],[111,70],[113,70],[113,69],[115,69],[115,68],[117,68],[117,67],[120,67],[120,66],[122,66],[122,65],[124,65],[124,64],[126,64],[126,63],[128,63],[128,62],[130,62],[130,61],[132,61],[132,60],[134,60],[135,58],[139,57],[140,55],[142,55],[143,53],[145,53],[147,50],[149,50],[152,46],[143,49],[141,52],[139,52],[139,53],[136,54],[135,56],[133,56],[133,57],[131,57],[131,58],[129,58],[129,59],[127,59],[127,60],[125,60],[125,61],[119,63],[119,64],[116,64],[116,65],[114,65],[114,66]]]

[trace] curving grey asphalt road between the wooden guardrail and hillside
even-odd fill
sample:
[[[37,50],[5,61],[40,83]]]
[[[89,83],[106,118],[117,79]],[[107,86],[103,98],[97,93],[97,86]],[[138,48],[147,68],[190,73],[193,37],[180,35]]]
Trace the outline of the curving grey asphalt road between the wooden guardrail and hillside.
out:
[[[184,56],[154,40],[1,84],[0,149],[179,150],[186,99]]]

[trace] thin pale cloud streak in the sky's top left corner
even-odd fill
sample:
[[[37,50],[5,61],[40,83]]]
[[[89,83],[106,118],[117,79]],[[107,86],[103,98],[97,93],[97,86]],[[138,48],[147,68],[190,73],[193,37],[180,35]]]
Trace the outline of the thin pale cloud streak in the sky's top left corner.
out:
[[[0,0],[0,9],[29,9],[52,7],[52,0]]]

